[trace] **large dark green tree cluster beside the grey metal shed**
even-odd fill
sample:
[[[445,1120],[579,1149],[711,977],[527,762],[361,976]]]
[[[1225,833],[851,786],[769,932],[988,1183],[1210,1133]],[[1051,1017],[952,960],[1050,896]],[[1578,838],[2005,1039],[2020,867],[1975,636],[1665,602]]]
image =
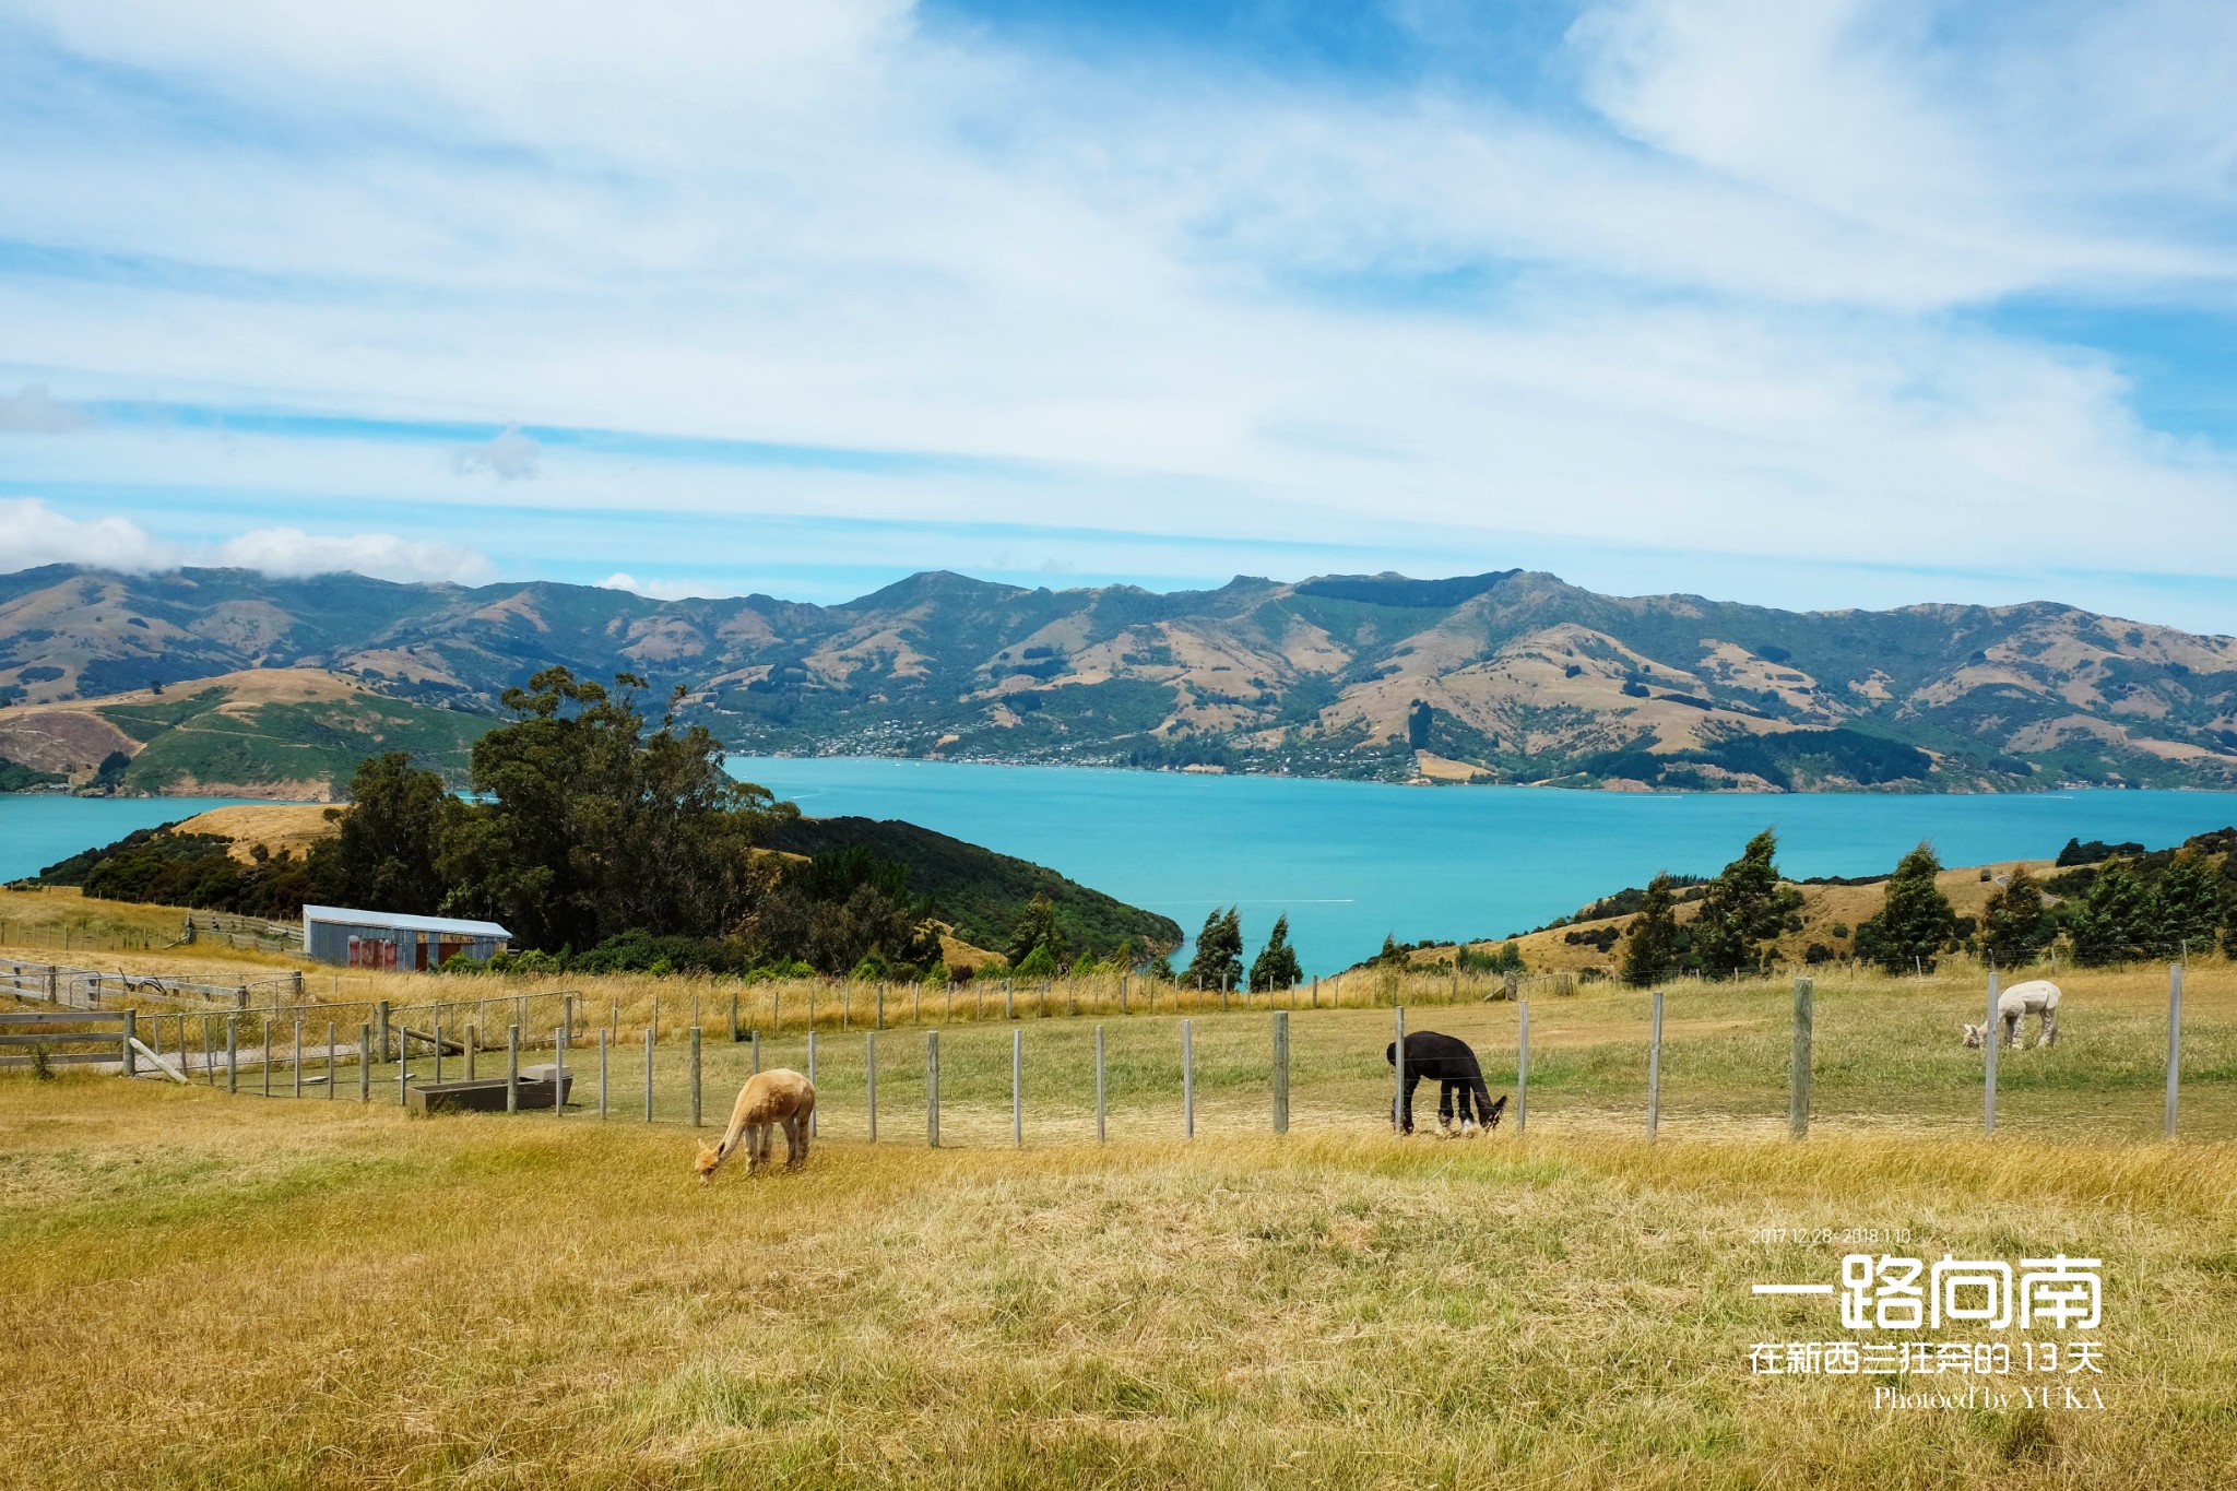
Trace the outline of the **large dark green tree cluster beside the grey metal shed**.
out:
[[[362,762],[333,843],[336,896],[501,921],[517,948],[568,968],[653,948],[655,963],[740,972],[888,977],[940,959],[904,865],[861,847],[756,854],[799,809],[734,780],[705,726],[651,724],[638,688],[629,673],[608,691],[566,668],[510,688],[512,724],[474,742],[472,798],[403,753]]]

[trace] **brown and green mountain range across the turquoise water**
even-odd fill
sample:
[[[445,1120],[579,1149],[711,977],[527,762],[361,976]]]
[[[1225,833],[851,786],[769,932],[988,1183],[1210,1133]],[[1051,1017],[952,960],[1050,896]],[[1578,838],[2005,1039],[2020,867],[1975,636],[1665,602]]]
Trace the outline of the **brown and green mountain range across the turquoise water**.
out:
[[[926,572],[812,606],[47,566],[0,574],[0,756],[11,718],[157,684],[298,668],[490,718],[548,664],[682,686],[680,715],[749,753],[1631,789],[2237,785],[2230,637],[2049,601],[1606,597],[1526,570],[1165,595]],[[403,733],[454,767],[474,729]]]

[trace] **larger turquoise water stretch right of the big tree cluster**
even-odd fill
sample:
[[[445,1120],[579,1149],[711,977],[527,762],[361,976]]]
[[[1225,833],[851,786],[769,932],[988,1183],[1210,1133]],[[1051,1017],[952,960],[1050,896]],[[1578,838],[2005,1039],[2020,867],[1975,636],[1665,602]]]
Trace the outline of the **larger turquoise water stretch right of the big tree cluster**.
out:
[[[1948,865],[2051,858],[2069,836],[2150,847],[2237,823],[2237,794],[1615,794],[1273,776],[731,758],[814,816],[908,818],[1051,865],[1190,934],[1242,905],[1257,948],[1289,912],[1306,972],[1385,934],[1494,937],[1658,870],[1716,874],[1763,827],[1790,876],[1884,874],[1931,838]]]

